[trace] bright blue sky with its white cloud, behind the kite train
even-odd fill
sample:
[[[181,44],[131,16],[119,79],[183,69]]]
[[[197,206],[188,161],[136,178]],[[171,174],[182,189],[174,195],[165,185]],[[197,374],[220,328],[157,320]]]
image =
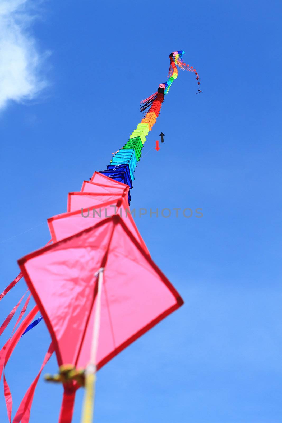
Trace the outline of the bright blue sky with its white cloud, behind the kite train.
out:
[[[281,421],[281,12],[279,1],[0,1],[3,289],[67,193],[129,138],[170,52],[185,50],[201,78],[195,95],[179,73],[131,190],[137,209],[203,209],[136,218],[185,304],[99,371],[97,422]],[[22,280],[1,301],[1,321],[24,291]],[[41,322],[7,365],[14,412],[49,339]],[[44,372],[56,370],[52,357]],[[41,378],[30,422],[57,421],[61,392]]]

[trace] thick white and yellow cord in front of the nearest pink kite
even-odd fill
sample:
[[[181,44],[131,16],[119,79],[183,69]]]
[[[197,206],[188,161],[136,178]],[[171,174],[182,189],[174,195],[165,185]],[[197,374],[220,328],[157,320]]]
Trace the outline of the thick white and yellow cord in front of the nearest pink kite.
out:
[[[94,316],[91,352],[90,352],[90,363],[85,369],[85,394],[82,407],[82,423],[92,423],[93,421],[93,410],[94,410],[94,399],[95,399],[95,384],[96,384],[96,359],[99,341],[100,331],[100,319],[101,319],[101,295],[102,285],[104,276],[104,267],[101,267],[95,276],[98,275],[98,292],[96,297],[96,310]]]

